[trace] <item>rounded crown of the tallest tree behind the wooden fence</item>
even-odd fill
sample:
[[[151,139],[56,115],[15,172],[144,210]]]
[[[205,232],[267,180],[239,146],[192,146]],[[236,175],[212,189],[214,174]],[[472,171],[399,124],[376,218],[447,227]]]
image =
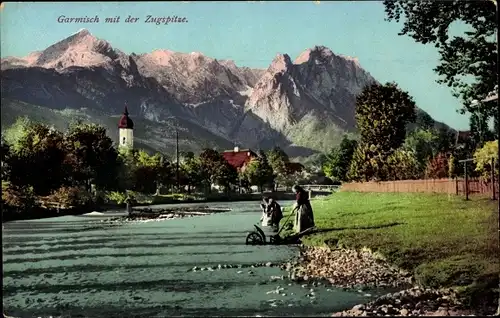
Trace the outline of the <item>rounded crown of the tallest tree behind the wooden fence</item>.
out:
[[[356,122],[361,143],[375,145],[383,155],[399,148],[406,125],[416,119],[415,102],[394,83],[372,84],[356,99]]]

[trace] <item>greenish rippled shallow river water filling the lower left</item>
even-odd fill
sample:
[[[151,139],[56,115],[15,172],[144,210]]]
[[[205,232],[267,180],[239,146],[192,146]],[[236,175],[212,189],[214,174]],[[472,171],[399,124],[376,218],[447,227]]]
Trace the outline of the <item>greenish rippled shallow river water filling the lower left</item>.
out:
[[[246,234],[260,218],[256,202],[203,205],[232,211],[117,226],[100,222],[113,211],[4,224],[5,313],[326,316],[368,300],[357,291],[305,286],[286,278],[271,281],[271,276],[286,277],[278,267],[193,272],[194,266],[279,263],[298,253],[296,247],[245,245]],[[314,299],[307,297],[311,288]]]

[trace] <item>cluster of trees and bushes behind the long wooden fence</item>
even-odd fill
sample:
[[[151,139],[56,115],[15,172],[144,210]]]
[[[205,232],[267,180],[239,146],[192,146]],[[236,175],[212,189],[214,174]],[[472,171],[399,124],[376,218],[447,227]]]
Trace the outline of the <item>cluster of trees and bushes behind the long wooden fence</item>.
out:
[[[455,177],[463,173],[457,160],[474,157],[473,175],[490,175],[491,159],[497,158],[498,149],[492,132],[471,134],[457,143],[455,133],[421,119],[416,128],[409,129],[417,121],[416,106],[397,85],[367,87],[356,103],[360,138],[345,136],[330,151],[323,165],[325,174],[339,181]]]

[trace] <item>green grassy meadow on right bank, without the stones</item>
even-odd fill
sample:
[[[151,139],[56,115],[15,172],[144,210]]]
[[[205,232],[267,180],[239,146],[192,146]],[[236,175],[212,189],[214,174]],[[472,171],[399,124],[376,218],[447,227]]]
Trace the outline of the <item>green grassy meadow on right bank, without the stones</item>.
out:
[[[320,232],[309,246],[368,247],[425,287],[498,286],[498,214],[486,198],[339,192],[312,201]]]

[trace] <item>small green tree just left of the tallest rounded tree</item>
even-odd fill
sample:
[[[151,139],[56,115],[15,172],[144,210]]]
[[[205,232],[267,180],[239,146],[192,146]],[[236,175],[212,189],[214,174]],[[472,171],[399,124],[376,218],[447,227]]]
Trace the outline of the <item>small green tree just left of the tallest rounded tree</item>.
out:
[[[325,175],[336,181],[347,181],[347,172],[358,142],[349,139],[346,135],[342,138],[340,145],[334,147],[327,155],[327,161],[323,165]]]

